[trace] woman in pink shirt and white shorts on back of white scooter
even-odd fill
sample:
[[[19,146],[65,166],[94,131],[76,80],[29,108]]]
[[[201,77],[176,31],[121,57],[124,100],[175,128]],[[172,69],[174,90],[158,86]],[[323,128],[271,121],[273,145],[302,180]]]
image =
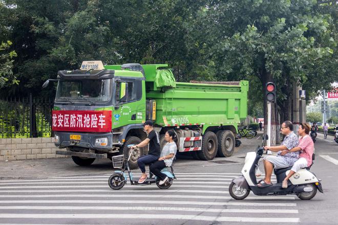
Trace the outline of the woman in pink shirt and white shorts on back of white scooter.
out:
[[[301,123],[298,129],[298,134],[301,136],[298,146],[290,150],[284,150],[281,155],[287,152],[301,151],[299,159],[293,164],[289,174],[284,178],[282,188],[287,188],[289,178],[301,168],[309,167],[312,164],[313,141],[309,136],[310,126],[307,123]]]

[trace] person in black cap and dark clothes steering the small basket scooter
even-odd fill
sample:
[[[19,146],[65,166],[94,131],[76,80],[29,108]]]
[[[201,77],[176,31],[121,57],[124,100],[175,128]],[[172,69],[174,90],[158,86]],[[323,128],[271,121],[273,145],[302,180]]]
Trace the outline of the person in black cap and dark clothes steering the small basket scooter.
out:
[[[160,137],[158,132],[153,129],[153,121],[147,120],[144,122],[144,131],[148,133],[148,137],[141,143],[132,146],[131,148],[142,148],[149,144],[149,152],[147,155],[142,155],[138,158],[137,164],[141,169],[142,175],[138,181],[139,184],[142,184],[147,178],[145,172],[145,164],[150,164],[158,160],[161,154],[160,150]]]

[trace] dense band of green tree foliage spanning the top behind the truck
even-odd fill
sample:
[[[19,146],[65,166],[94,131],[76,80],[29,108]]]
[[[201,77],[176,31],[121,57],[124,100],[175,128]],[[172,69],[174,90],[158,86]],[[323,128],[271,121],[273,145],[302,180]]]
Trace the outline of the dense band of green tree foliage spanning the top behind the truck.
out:
[[[0,15],[20,80],[4,95],[52,95],[41,84],[83,60],[168,63],[178,81],[249,80],[251,115],[273,81],[291,119],[294,85],[311,99],[337,80],[336,1],[3,0]]]

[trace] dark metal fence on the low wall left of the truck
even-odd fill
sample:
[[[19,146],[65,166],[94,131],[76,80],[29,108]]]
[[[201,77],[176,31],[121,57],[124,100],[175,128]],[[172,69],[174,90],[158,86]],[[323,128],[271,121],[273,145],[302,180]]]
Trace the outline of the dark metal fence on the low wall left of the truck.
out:
[[[0,99],[0,138],[51,137],[54,99],[32,97]]]

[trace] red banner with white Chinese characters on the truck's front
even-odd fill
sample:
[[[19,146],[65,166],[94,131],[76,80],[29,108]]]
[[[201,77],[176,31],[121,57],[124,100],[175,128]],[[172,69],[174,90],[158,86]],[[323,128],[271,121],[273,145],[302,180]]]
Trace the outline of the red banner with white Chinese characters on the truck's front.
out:
[[[112,130],[111,110],[53,110],[52,130],[110,132]]]

